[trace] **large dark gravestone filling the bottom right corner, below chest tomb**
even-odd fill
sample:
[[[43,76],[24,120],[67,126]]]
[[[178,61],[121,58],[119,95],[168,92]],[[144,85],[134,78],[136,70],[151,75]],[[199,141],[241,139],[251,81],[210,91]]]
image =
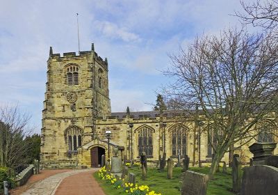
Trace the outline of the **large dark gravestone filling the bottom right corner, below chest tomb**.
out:
[[[245,167],[240,194],[277,195],[278,168],[267,165]]]

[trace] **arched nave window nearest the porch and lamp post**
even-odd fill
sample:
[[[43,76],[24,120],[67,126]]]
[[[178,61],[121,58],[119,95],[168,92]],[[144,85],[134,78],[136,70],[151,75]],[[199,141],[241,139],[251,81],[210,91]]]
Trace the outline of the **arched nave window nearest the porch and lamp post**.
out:
[[[153,130],[149,127],[142,127],[138,130],[138,154],[146,153],[147,157],[152,157],[152,133]]]

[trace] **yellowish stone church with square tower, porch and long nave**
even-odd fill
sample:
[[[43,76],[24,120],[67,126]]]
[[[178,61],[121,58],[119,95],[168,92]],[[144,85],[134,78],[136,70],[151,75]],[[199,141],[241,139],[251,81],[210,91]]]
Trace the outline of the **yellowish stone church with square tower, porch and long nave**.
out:
[[[98,56],[94,44],[79,54],[54,54],[50,47],[41,130],[44,168],[99,167],[101,155],[112,157],[113,147],[127,161],[138,161],[144,151],[150,164],[157,164],[163,153],[174,162],[184,155],[190,157],[191,165],[211,162],[213,141],[208,139],[213,137],[203,131],[195,115],[182,111],[111,113],[108,84],[108,61]],[[235,151],[245,162],[252,157],[248,149],[252,143]],[[229,153],[222,161],[229,162]]]

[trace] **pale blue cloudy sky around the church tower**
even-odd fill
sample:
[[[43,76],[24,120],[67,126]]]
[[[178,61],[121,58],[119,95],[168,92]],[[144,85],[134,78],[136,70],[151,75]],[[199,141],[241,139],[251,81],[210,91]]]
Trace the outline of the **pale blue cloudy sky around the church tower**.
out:
[[[197,35],[239,24],[238,0],[1,1],[0,104],[19,104],[40,132],[49,46],[54,53],[81,51],[108,58],[112,111],[151,110],[169,78],[161,70]]]

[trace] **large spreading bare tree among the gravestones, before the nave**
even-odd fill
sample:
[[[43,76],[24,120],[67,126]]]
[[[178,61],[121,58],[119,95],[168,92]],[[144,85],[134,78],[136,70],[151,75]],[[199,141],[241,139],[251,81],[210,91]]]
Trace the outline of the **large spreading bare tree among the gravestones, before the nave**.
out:
[[[195,110],[206,127],[214,158],[213,177],[229,146],[257,136],[254,125],[275,118],[278,89],[278,45],[268,35],[250,35],[229,29],[220,36],[196,38],[187,49],[170,56],[165,75],[175,82],[167,86],[172,105]],[[243,144],[244,144],[243,143]]]

